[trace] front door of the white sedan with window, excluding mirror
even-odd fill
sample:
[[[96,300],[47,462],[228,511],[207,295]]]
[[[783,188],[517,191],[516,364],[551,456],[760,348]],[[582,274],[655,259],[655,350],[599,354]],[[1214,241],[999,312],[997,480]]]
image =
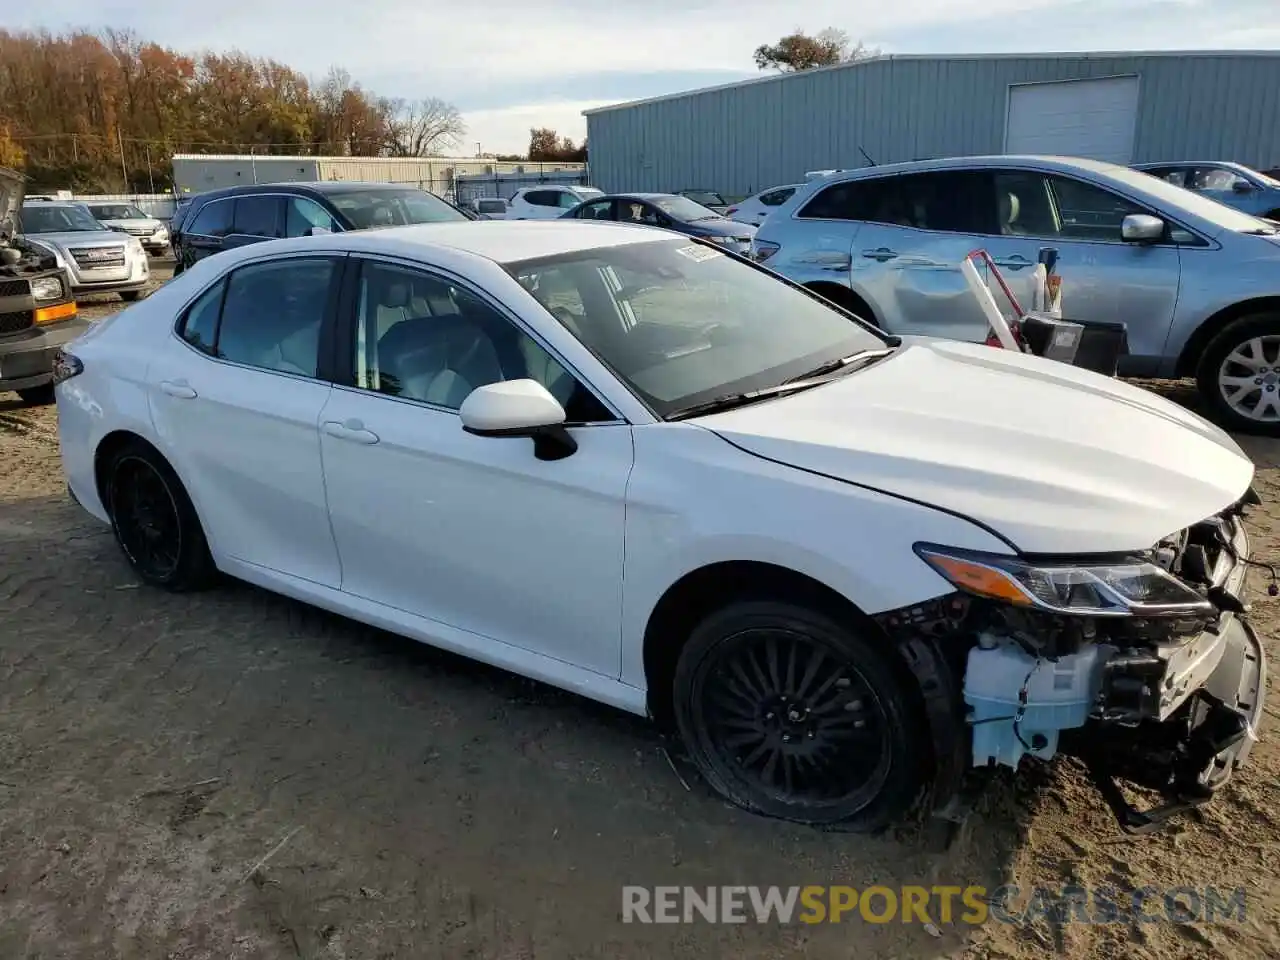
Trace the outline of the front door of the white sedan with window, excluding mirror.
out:
[[[320,416],[342,589],[617,677],[631,428],[451,280],[370,260],[357,284],[349,385]],[[472,389],[526,376],[584,424],[572,456],[462,430]]]

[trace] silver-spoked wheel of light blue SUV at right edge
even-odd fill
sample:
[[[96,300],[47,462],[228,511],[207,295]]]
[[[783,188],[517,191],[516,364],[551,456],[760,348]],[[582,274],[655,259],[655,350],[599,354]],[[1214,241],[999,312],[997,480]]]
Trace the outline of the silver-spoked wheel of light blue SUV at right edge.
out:
[[[1280,314],[1224,326],[1196,371],[1208,415],[1228,430],[1280,436]]]

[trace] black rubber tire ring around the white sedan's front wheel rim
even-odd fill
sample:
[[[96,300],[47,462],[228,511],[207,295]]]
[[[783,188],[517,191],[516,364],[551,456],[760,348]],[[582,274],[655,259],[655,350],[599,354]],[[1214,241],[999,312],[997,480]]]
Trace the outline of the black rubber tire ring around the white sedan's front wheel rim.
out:
[[[782,626],[801,632],[832,648],[846,658],[872,687],[884,712],[891,760],[881,791],[861,809],[810,808],[748,794],[742,785],[719,773],[699,735],[694,719],[694,684],[703,660],[735,634],[753,627]],[[929,756],[929,742],[916,699],[900,673],[890,664],[892,650],[886,639],[876,649],[861,631],[840,623],[824,613],[774,600],[732,603],[708,616],[694,628],[681,650],[673,680],[676,728],[708,785],[730,803],[755,814],[808,823],[840,826],[852,831],[877,831],[906,815],[920,794]]]

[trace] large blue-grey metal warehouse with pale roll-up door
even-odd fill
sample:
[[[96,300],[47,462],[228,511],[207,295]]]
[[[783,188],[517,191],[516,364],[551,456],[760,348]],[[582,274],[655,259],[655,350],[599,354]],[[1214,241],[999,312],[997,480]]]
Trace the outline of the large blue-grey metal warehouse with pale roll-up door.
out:
[[[1280,51],[879,56],[586,111],[605,191],[983,154],[1280,165]]]

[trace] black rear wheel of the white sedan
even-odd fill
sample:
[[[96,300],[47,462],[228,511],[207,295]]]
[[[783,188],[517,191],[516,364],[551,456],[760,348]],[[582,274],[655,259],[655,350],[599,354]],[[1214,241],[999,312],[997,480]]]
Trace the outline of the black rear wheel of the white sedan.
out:
[[[205,531],[187,492],[155,449],[131,443],[106,465],[111,531],[138,577],[163,590],[183,593],[214,576]]]

